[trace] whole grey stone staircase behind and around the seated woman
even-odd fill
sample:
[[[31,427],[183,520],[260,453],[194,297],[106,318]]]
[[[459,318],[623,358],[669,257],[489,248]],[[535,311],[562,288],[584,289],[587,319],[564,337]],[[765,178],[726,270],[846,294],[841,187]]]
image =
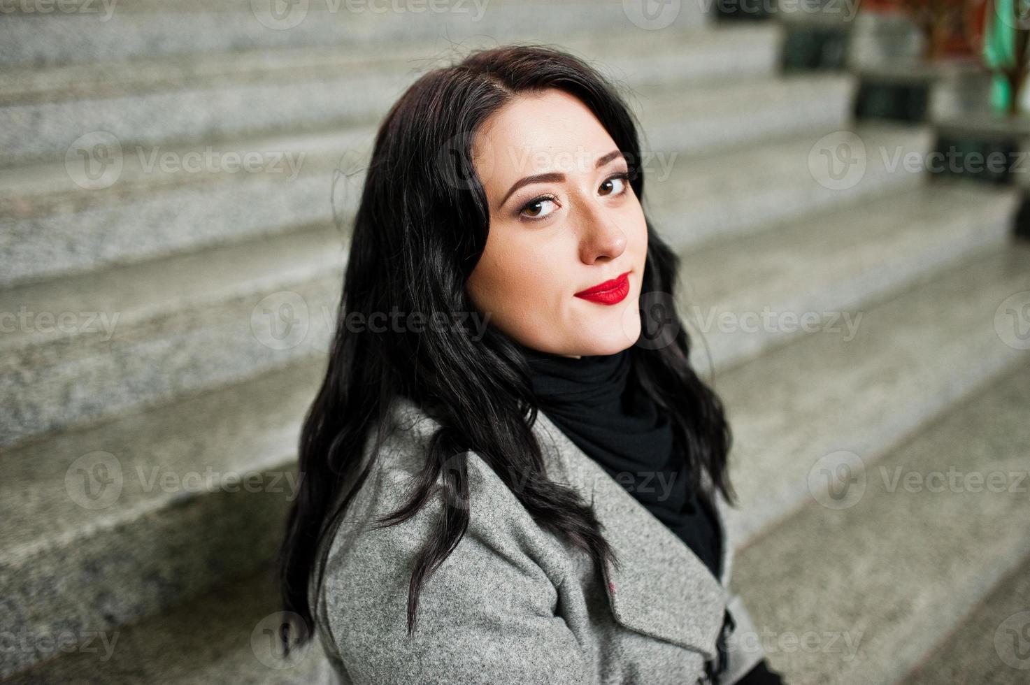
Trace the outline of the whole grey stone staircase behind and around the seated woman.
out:
[[[362,181],[334,169],[424,69],[509,40],[589,58],[639,113],[772,666],[1025,682],[1018,192],[901,163],[930,129],[853,122],[852,75],[781,74],[783,24],[683,3],[649,30],[599,0],[67,7],[0,15],[4,682],[317,679],[317,652],[271,649],[269,561]],[[842,149],[858,167],[827,166]],[[1010,487],[905,486],[948,469]]]

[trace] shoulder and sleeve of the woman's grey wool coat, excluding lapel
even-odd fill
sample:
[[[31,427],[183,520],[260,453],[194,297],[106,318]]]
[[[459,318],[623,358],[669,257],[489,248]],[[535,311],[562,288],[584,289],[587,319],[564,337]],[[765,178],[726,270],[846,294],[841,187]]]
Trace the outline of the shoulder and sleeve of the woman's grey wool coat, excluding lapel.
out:
[[[539,563],[549,542],[476,452],[457,455],[468,464],[467,504],[437,487],[411,518],[377,523],[417,482],[435,422],[411,418],[386,440],[329,542],[319,616],[332,660],[354,682],[483,682],[486,674],[535,682],[550,671],[580,682],[578,644],[555,616],[556,583]],[[464,506],[468,527],[425,576],[409,633],[412,574]]]

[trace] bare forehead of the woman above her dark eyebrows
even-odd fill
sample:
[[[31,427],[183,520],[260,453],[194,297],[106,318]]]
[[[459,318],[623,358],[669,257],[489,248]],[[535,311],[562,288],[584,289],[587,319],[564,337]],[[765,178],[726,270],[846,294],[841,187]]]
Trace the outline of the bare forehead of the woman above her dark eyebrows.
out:
[[[519,95],[490,116],[476,136],[473,157],[490,186],[491,180],[510,183],[546,171],[592,173],[594,160],[615,147],[586,105],[551,89]]]

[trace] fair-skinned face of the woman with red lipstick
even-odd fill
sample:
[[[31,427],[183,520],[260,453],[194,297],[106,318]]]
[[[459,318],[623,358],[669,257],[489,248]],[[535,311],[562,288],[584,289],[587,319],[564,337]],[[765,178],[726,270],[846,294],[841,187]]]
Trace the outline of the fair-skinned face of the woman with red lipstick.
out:
[[[544,352],[631,346],[641,330],[647,226],[608,132],[582,102],[551,89],[513,100],[474,142],[490,206],[486,246],[467,284],[477,310]],[[626,284],[577,296],[626,273]]]

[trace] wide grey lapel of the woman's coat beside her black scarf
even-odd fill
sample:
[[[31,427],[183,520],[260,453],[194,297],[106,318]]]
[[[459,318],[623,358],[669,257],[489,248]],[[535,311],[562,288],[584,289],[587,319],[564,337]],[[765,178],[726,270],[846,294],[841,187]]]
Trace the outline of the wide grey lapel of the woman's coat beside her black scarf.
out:
[[[715,658],[716,638],[729,597],[730,545],[721,502],[715,510],[723,539],[722,578],[644,505],[587,456],[543,412],[534,431],[548,459],[549,476],[582,490],[593,505],[618,557],[607,564],[606,585],[615,619],[638,632]]]

